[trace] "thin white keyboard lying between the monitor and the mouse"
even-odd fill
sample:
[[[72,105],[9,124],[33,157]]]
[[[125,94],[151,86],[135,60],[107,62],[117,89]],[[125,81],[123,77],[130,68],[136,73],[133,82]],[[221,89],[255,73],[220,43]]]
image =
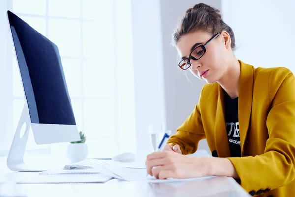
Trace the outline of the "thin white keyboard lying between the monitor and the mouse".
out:
[[[69,165],[65,165],[63,169],[92,169],[97,168],[100,165],[107,164],[103,160],[98,159],[85,159],[79,162],[75,162]]]

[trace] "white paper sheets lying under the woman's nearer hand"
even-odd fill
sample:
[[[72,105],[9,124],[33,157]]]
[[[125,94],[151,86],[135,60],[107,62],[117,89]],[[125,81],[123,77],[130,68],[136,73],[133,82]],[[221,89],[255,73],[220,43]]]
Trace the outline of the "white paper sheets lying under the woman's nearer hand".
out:
[[[116,174],[117,176],[119,176],[121,180],[125,180],[125,181],[148,181],[153,183],[186,182],[186,181],[201,180],[201,179],[216,177],[216,176],[206,176],[206,177],[190,178],[190,179],[156,179],[155,177],[147,176],[146,169],[122,168],[122,167],[115,167],[110,165],[104,165],[103,167],[111,171],[112,173]]]

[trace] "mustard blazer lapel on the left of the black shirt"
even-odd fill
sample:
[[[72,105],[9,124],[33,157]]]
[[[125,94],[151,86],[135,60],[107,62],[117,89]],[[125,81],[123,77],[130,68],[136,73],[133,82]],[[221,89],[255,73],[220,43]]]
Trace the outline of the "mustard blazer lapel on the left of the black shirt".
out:
[[[218,157],[231,157],[224,118],[224,90],[218,85],[215,120],[215,146]]]

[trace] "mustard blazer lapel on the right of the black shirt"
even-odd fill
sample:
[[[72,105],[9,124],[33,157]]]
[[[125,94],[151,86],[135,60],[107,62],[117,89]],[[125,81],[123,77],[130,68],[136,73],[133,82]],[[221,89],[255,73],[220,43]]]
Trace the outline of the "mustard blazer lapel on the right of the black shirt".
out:
[[[244,155],[245,140],[252,111],[252,95],[254,81],[254,67],[240,62],[241,72],[239,81],[238,119],[241,141],[241,153]]]

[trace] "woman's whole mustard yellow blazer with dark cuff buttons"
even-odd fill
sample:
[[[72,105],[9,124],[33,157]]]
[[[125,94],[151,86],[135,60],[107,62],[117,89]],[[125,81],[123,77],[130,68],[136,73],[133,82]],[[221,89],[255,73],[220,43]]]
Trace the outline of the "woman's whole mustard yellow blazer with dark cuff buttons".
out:
[[[260,197],[295,196],[295,77],[287,68],[240,62],[238,117],[242,157],[231,157],[223,90],[206,84],[199,103],[168,143],[194,153],[207,139],[213,155],[229,158],[241,186]],[[272,195],[272,196],[271,196]]]

